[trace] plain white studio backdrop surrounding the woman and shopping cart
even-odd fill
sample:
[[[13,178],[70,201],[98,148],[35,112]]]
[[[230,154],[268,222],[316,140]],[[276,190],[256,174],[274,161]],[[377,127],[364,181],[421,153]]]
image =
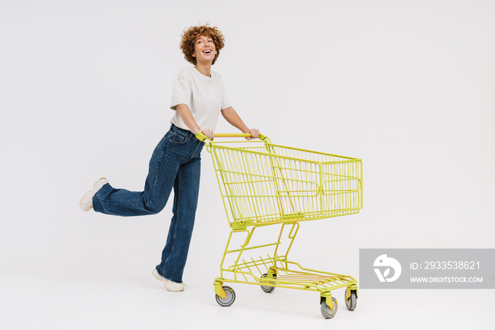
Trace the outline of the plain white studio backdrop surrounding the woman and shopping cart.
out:
[[[493,1],[0,1],[0,329],[493,329],[493,290],[315,292],[212,282],[228,236],[211,159],[182,293],[151,275],[171,206],[81,212],[101,176],[141,190],[168,130],[184,28],[272,142],[363,159],[359,215],[301,224],[293,258],[359,275],[363,248],[494,248]],[[231,132],[219,123],[217,132]],[[170,203],[171,204],[171,203]],[[339,290],[342,291],[342,290]]]

